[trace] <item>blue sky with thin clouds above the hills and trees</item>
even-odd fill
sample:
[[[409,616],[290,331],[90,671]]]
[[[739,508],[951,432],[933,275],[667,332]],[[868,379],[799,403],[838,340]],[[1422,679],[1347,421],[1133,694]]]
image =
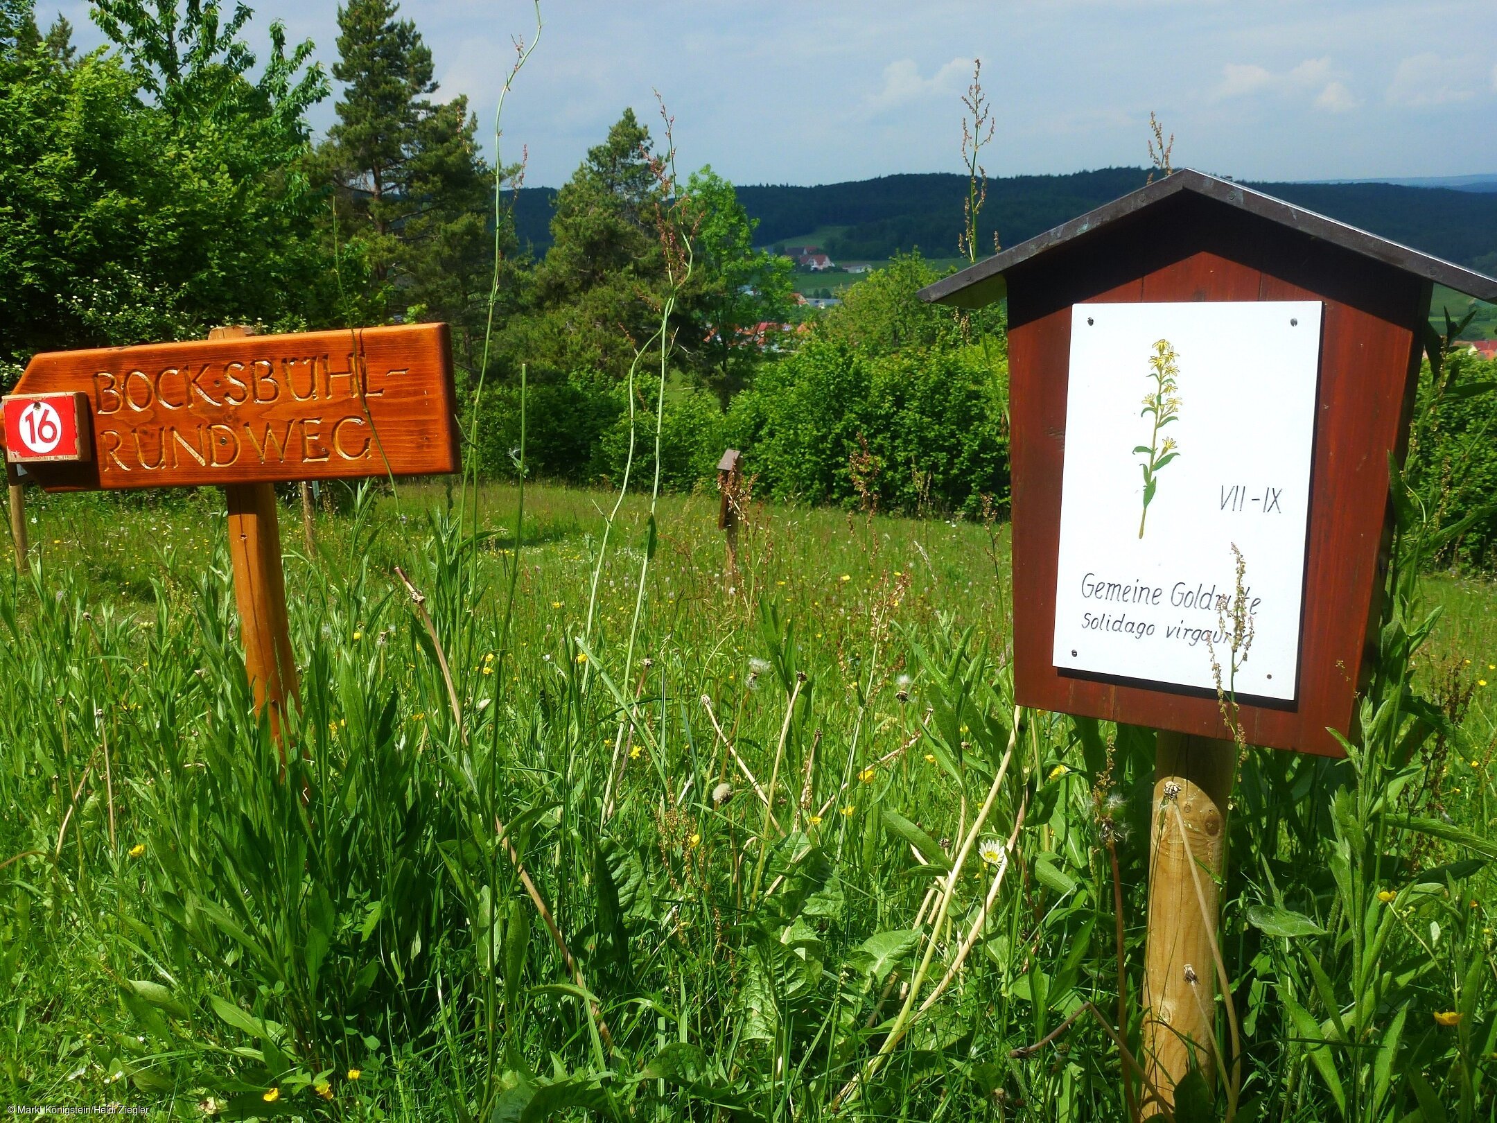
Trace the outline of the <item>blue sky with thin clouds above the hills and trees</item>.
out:
[[[317,55],[331,0],[259,0]],[[93,46],[82,0],[61,10]],[[481,129],[534,33],[525,0],[404,0],[445,96]],[[1150,111],[1177,166],[1256,180],[1497,172],[1491,0],[551,0],[503,123],[527,183],[560,184],[626,105],[675,115],[683,168],[748,183],[960,171],[973,58],[997,108],[990,175],[1147,162]],[[331,102],[314,114],[332,120]],[[493,151],[493,141],[490,141]]]

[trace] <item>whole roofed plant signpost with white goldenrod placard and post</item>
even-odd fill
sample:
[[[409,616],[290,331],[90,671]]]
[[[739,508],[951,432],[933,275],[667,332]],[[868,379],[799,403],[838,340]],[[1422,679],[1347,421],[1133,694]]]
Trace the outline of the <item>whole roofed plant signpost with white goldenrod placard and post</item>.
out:
[[[1356,734],[1434,283],[1497,299],[1181,171],[922,292],[1007,299],[1018,704],[1159,731],[1144,1066],[1169,1102],[1214,1068],[1234,737]]]

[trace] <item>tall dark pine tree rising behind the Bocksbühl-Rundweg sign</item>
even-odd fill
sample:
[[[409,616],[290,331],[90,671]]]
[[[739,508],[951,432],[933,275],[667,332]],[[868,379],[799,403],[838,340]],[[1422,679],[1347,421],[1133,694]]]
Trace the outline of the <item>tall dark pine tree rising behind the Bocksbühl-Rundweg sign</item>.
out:
[[[340,238],[367,265],[376,314],[446,320],[472,367],[493,265],[493,171],[467,100],[433,102],[431,49],[395,0],[338,7],[344,84],[320,153],[337,187]]]

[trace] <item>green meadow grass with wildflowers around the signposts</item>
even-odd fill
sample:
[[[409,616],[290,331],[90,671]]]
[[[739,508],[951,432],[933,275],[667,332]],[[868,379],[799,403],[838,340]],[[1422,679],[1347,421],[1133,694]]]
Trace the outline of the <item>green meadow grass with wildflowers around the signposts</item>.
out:
[[[716,494],[653,521],[630,496],[608,529],[615,496],[530,487],[516,541],[512,487],[403,485],[319,514],[311,556],[284,508],[283,762],[217,493],[27,502],[39,566],[0,587],[0,1098],[1127,1117],[1111,852],[1136,1053],[1153,743],[1015,722],[1004,527],[756,505],[728,573]],[[1193,1110],[1493,1111],[1497,596],[1424,588],[1415,684],[1458,725],[1412,767],[1376,747],[1412,728],[1383,711],[1355,761],[1244,755],[1241,1069]]]

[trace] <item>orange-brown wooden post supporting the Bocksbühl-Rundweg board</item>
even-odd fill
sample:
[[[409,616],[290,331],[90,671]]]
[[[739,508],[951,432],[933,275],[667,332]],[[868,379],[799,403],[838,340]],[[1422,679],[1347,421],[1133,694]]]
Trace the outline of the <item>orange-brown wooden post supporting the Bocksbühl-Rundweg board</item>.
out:
[[[214,328],[210,340],[251,335],[250,328]],[[286,701],[299,699],[296,656],[286,617],[286,570],[281,566],[280,508],[275,485],[228,484],[229,557],[234,563],[234,599],[240,606],[240,642],[244,669],[254,692],[254,710],[269,707],[271,734],[280,743]]]

